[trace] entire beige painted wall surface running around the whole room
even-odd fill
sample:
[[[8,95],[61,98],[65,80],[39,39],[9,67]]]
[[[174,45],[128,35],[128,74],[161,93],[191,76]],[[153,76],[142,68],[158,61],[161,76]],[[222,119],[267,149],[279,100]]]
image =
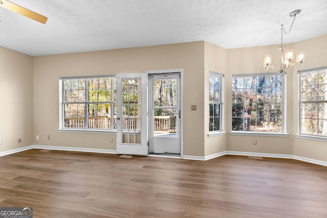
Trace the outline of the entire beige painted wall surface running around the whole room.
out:
[[[327,161],[326,142],[296,138],[297,70],[327,66],[327,35],[286,44],[305,50],[306,62],[287,70],[287,132],[289,137],[237,136],[231,130],[231,76],[264,72],[263,56],[278,57],[278,45],[225,50],[207,42],[137,47],[89,53],[30,57],[0,47],[1,151],[39,144],[115,150],[115,134],[58,132],[59,77],[184,70],[184,155],[208,156],[223,151],[290,154]],[[33,68],[34,67],[34,68]],[[208,74],[225,75],[226,135],[207,137]],[[197,105],[191,111],[191,105]],[[10,112],[8,112],[10,111]],[[36,140],[35,136],[40,139]],[[50,135],[50,139],[48,139]],[[22,143],[17,143],[21,138]],[[109,139],[114,138],[110,143]],[[258,144],[253,145],[253,140]]]

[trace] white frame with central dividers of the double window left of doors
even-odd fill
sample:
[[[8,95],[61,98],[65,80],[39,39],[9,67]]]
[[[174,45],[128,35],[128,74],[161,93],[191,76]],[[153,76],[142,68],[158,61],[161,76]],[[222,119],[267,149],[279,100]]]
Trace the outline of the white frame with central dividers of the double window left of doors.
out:
[[[98,78],[111,78],[111,101],[103,101],[103,102],[96,102],[96,101],[89,101],[87,99],[89,88],[87,86],[87,80],[88,79],[98,79]],[[65,127],[64,124],[64,105],[67,102],[64,102],[63,96],[64,96],[64,87],[63,87],[63,81],[64,80],[80,80],[85,79],[85,101],[84,102],[76,102],[79,104],[84,104],[84,128],[68,128]],[[116,101],[114,101],[114,95],[116,94],[116,84],[114,84],[114,81],[116,81],[116,75],[97,75],[97,76],[81,76],[81,77],[60,77],[59,78],[59,129],[58,131],[62,132],[94,132],[94,133],[108,133],[108,132],[116,132],[116,129],[114,129],[114,119],[116,117],[116,114],[114,114],[114,107],[116,106]],[[96,90],[96,89],[95,89]],[[75,103],[75,102],[74,102]],[[110,104],[110,129],[97,129],[97,128],[89,128],[87,126],[87,119],[88,119],[88,105],[90,104]],[[68,104],[73,104],[73,102],[68,102]]]

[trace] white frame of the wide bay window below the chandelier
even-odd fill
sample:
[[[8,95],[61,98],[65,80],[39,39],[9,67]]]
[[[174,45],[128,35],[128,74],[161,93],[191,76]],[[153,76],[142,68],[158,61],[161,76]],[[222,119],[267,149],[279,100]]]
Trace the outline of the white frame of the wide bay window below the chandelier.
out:
[[[276,137],[288,137],[289,134],[286,132],[286,123],[287,123],[287,113],[286,113],[286,72],[279,73],[279,72],[263,72],[257,74],[233,74],[232,78],[234,77],[262,77],[262,76],[282,76],[282,111],[281,111],[281,119],[282,119],[282,126],[281,132],[269,132],[269,131],[238,131],[238,130],[231,130],[231,135],[251,135],[251,136],[276,136]],[[231,92],[233,87],[231,87]],[[232,100],[232,96],[231,96]],[[232,103],[232,101],[231,101]],[[232,112],[232,110],[231,110]],[[232,117],[231,117],[232,118]],[[232,127],[232,124],[231,124]]]

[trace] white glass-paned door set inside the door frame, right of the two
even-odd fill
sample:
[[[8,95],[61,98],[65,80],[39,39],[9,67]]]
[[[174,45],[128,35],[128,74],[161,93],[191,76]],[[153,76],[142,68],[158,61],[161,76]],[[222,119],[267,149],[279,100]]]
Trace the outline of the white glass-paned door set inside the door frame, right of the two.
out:
[[[181,153],[180,73],[149,74],[149,153]]]

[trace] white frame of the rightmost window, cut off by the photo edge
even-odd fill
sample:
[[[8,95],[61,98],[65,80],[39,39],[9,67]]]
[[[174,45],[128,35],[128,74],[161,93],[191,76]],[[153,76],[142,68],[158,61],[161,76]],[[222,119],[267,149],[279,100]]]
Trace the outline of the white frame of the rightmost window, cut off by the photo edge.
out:
[[[296,135],[297,138],[327,141],[327,135],[319,135],[319,132],[317,132],[317,134],[310,134],[310,133],[303,133],[302,132],[302,118],[305,118],[305,117],[302,117],[301,104],[303,104],[303,103],[305,103],[305,104],[306,103],[307,104],[321,104],[321,103],[324,103],[324,104],[327,105],[327,100],[302,101],[302,99],[301,99],[301,96],[302,96],[302,94],[301,94],[301,91],[302,91],[301,74],[318,72],[320,70],[327,70],[327,66],[311,68],[311,69],[304,69],[304,70],[298,70],[298,134]],[[312,84],[312,85],[317,85],[318,86],[318,91],[319,91],[319,79],[317,80],[317,84]],[[319,111],[317,111],[317,117],[316,118],[311,118],[311,119],[319,120],[318,114],[319,114]],[[319,127],[317,127],[317,128],[319,128]]]

